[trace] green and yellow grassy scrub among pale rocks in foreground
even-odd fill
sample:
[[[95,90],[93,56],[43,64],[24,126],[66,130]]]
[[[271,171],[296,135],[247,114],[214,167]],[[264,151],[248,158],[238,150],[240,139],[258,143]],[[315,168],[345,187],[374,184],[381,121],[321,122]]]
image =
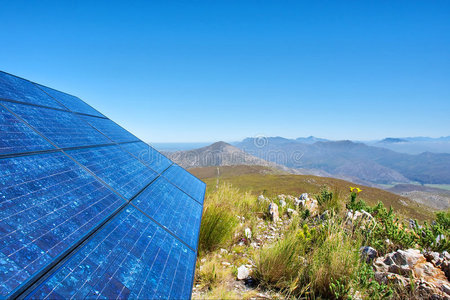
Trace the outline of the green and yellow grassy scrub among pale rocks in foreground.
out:
[[[398,217],[381,202],[366,204],[364,191],[343,194],[323,187],[312,196],[318,211],[308,212],[286,200],[285,206],[280,205],[282,221],[275,228],[267,214],[269,202],[230,184],[210,191],[200,231],[194,298],[414,298],[413,286],[376,281],[360,248],[371,246],[379,256],[397,249],[450,248],[446,239],[450,212],[419,224]],[[288,216],[288,208],[296,213]],[[372,219],[349,225],[348,213],[361,210]],[[276,232],[276,238],[266,238],[267,232]],[[236,288],[241,265],[251,269],[251,288]]]

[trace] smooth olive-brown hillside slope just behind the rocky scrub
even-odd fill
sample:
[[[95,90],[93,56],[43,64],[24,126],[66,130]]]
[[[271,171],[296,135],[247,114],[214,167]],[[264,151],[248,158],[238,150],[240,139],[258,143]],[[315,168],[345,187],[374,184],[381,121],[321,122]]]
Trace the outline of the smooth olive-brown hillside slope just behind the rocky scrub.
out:
[[[354,186],[354,183],[341,179],[285,174],[273,172],[271,168],[263,166],[204,167],[192,168],[189,171],[207,183],[208,191],[214,190],[219,182],[230,183],[255,195],[261,193],[268,196],[300,195],[305,192],[314,194],[319,193],[324,186],[328,186],[339,195],[346,195],[349,187]],[[429,219],[432,216],[428,207],[406,197],[373,187],[360,186],[360,188],[363,190],[361,198],[371,205],[382,201],[384,205],[392,206],[402,215],[419,220]]]

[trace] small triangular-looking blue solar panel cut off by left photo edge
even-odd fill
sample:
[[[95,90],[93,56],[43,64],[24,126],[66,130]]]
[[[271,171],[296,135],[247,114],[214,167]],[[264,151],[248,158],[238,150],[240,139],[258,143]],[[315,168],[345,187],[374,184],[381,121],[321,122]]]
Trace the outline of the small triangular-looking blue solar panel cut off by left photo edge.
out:
[[[54,147],[0,105],[0,155]]]

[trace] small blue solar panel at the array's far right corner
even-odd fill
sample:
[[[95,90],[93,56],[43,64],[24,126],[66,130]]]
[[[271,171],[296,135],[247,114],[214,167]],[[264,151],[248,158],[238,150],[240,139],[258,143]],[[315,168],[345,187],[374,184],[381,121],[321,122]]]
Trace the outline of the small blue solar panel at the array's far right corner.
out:
[[[192,198],[203,203],[206,185],[194,175],[178,165],[172,165],[167,171],[162,173],[171,183],[182,189]]]

